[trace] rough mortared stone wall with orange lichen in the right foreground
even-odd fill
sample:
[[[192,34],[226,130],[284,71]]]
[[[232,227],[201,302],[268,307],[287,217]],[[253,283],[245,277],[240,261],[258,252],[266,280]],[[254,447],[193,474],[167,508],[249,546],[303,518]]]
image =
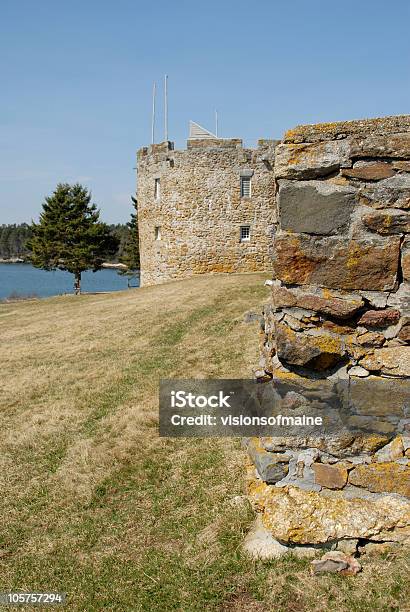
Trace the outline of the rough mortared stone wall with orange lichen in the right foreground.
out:
[[[275,179],[258,376],[343,382],[351,416],[340,436],[251,440],[251,498],[291,547],[409,543],[410,117],[291,130]]]

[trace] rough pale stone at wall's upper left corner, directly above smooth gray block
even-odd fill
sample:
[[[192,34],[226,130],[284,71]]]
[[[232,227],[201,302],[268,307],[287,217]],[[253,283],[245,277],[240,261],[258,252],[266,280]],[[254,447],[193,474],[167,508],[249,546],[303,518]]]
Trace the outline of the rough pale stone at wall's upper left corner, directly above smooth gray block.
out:
[[[310,179],[326,176],[341,166],[351,166],[348,140],[278,145],[275,150],[276,178]]]

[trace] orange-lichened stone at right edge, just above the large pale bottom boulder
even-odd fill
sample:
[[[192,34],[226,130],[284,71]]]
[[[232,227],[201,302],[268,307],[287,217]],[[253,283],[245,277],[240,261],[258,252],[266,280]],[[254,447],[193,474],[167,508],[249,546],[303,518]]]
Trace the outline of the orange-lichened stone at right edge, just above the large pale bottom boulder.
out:
[[[349,473],[349,483],[373,493],[398,493],[410,497],[410,468],[397,463],[358,465]]]

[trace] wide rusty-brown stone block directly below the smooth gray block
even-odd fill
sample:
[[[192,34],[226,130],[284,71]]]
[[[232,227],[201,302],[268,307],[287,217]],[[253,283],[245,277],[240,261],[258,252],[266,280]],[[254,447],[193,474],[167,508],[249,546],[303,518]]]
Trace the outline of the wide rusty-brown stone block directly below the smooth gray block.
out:
[[[348,240],[277,234],[274,276],[288,284],[317,284],[342,290],[395,288],[400,239]]]

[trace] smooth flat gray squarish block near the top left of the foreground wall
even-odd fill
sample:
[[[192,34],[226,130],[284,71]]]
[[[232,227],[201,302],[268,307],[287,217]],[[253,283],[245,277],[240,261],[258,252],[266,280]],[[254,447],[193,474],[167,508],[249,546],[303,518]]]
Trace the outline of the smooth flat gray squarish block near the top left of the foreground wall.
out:
[[[355,205],[355,189],[322,181],[279,181],[281,228],[324,235],[346,230]]]

